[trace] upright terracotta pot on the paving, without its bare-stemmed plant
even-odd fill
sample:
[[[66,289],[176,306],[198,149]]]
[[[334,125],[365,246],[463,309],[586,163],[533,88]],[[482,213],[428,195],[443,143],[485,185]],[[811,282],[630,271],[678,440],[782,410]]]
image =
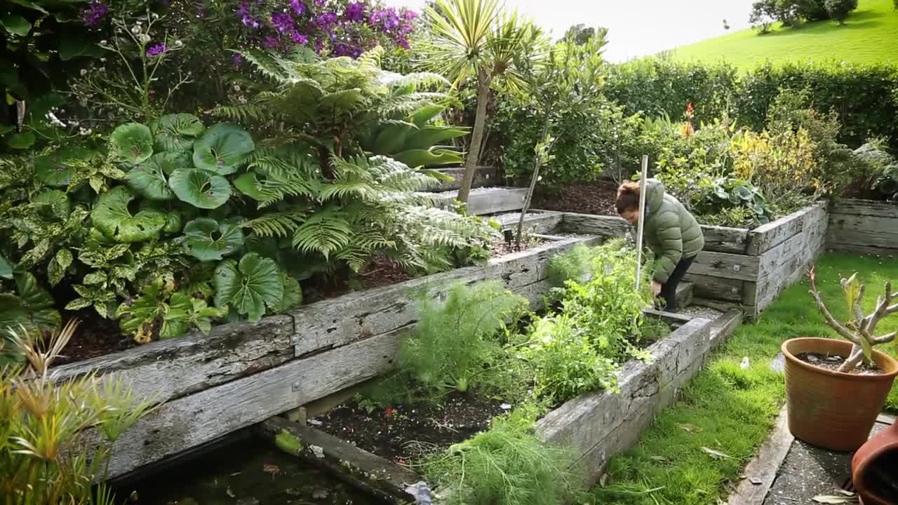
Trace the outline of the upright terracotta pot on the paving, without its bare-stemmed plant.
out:
[[[786,357],[788,428],[796,439],[836,451],[853,451],[867,442],[876,416],[898,375],[898,361],[874,350],[881,375],[846,374],[815,367],[796,356],[806,352],[843,358],[849,341],[806,338],[783,342]]]

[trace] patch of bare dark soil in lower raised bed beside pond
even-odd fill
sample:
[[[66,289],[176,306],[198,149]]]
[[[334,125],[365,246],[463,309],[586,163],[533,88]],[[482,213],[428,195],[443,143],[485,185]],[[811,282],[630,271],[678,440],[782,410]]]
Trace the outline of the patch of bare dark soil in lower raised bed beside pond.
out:
[[[311,424],[377,456],[406,465],[410,460],[470,439],[489,428],[492,418],[505,412],[502,402],[453,392],[445,395],[440,404],[397,405],[371,413],[356,402],[344,403]]]

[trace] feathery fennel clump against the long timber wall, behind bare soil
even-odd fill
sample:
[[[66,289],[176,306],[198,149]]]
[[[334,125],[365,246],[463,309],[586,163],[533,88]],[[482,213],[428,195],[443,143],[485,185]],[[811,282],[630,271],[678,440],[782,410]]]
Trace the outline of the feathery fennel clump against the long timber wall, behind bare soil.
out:
[[[400,368],[430,391],[489,386],[490,373],[506,359],[497,332],[524,306],[498,281],[457,284],[436,300],[419,300],[415,331],[400,344]]]

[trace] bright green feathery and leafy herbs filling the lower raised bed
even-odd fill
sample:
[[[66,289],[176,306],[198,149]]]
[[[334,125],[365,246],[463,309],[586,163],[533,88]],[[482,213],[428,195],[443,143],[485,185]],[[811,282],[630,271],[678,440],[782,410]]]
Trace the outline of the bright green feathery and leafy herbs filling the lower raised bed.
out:
[[[647,359],[657,338],[642,315],[650,296],[634,286],[636,253],[622,241],[578,246],[550,261],[547,315],[499,281],[448,288],[419,301],[398,368],[360,396],[363,404],[435,403],[453,391],[515,409],[486,430],[425,456],[427,482],[446,503],[559,503],[582,492],[577,457],[537,439],[535,421],[579,394],[616,388],[628,359]]]

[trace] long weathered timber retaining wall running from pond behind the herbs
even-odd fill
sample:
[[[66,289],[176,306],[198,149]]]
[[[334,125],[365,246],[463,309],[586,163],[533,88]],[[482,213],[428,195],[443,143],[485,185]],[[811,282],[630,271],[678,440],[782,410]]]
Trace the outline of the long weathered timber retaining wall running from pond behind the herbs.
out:
[[[118,372],[161,407],[119,439],[110,477],[178,455],[281,412],[376,377],[393,366],[397,336],[415,323],[415,293],[455,281],[500,279],[540,306],[548,260],[597,237],[566,238],[401,284],[322,300],[259,323],[233,323],[55,368],[56,380]]]

